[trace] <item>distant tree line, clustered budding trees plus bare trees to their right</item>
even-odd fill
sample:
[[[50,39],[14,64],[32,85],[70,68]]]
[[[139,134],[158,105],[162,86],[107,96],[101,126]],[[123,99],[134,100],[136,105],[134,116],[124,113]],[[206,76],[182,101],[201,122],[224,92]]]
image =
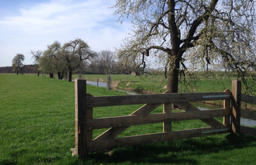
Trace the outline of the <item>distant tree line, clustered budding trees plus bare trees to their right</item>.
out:
[[[115,59],[112,51],[106,49],[96,53],[80,38],[63,45],[59,41],[54,41],[45,51],[31,50],[30,54],[34,59],[38,76],[40,72],[49,74],[50,78],[57,74],[58,79],[65,77],[68,81],[72,81],[73,73],[129,74],[132,72],[123,66],[120,59]]]

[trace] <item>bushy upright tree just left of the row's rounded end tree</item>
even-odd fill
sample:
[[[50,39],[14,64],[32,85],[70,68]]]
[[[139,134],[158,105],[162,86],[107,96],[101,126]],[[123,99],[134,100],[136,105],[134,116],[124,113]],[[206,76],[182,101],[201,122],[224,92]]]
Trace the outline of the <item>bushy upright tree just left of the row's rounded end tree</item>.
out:
[[[60,62],[61,43],[54,41],[53,44],[47,46],[47,50],[44,51],[44,55],[39,58],[40,70],[49,74],[50,78],[53,78],[54,73],[61,73],[62,62]]]

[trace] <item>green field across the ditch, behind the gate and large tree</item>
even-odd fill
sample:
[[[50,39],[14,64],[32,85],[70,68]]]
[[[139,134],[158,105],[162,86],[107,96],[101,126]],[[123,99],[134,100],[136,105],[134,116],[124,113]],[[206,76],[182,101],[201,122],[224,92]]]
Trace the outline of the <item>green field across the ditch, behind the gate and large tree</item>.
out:
[[[73,75],[73,79],[77,78],[78,75]],[[106,82],[106,75],[83,75],[88,81],[97,81]],[[167,80],[163,79],[163,76],[133,76],[133,75],[111,75],[112,84],[119,88],[126,88],[131,90],[144,90],[149,93],[163,93],[166,91]],[[233,78],[235,79],[235,78]],[[224,91],[225,89],[231,89],[231,79],[223,79],[221,83],[217,80],[206,80],[202,78],[200,81],[195,82],[193,89],[190,89],[190,92],[215,92],[215,91]],[[185,89],[184,84],[180,83],[179,92],[188,92]]]

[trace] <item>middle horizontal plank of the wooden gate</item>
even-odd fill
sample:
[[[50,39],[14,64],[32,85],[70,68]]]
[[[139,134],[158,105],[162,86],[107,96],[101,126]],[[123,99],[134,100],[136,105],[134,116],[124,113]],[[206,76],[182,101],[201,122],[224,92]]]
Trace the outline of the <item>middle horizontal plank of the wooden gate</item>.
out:
[[[148,115],[130,115],[118,117],[96,118],[87,121],[89,130],[103,129],[110,127],[127,127],[159,122],[171,122],[182,120],[195,120],[212,117],[223,117],[230,114],[230,109],[212,109],[204,111],[156,113]],[[222,126],[222,125],[221,125]],[[167,131],[165,131],[167,132]]]

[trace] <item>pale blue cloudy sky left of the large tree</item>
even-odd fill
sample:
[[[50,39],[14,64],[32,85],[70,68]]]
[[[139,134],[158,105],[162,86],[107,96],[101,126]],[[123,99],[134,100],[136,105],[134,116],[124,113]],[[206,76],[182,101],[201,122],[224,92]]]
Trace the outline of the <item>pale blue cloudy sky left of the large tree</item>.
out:
[[[55,40],[81,38],[93,51],[115,51],[131,32],[113,13],[115,0],[0,0],[0,67],[11,66],[21,53],[32,64],[30,50],[46,50]]]

